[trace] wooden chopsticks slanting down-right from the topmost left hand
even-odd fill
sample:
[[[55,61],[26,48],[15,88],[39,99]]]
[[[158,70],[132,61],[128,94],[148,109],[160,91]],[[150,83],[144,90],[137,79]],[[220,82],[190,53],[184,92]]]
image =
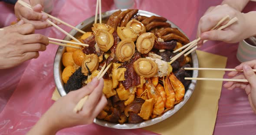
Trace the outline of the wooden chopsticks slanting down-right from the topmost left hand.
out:
[[[22,0],[18,0],[17,2],[20,3],[20,5],[22,5],[22,6],[24,6],[24,7],[27,7],[27,8],[29,8],[30,10],[33,10],[33,9],[31,8],[30,4],[28,4],[28,3],[26,3],[26,2],[24,2],[24,1],[22,1]],[[45,13],[45,12],[42,11],[42,13]],[[74,26],[69,25],[68,23],[65,23],[65,22],[63,22],[62,20],[60,20],[60,19],[58,19],[58,18],[56,18],[56,17],[54,17],[54,16],[51,16],[51,15],[49,15],[49,14],[47,14],[47,13],[45,13],[45,14],[46,14],[47,16],[49,16],[49,18],[55,19],[56,21],[59,21],[60,23],[66,25],[66,26],[69,26],[69,27],[71,27],[71,28],[73,28],[73,29],[75,29],[75,30],[77,30],[77,31],[79,31],[79,32],[85,33],[85,32],[83,32],[82,30],[77,29],[77,28],[75,28]],[[50,21],[49,19],[46,19],[46,22],[49,23],[49,24],[51,24],[51,25],[54,26],[55,28],[59,29],[59,31],[61,31],[61,32],[63,32],[64,34],[66,34],[66,35],[69,36],[71,39],[75,40],[75,42],[81,43],[78,39],[76,39],[75,37],[73,37],[72,35],[70,35],[70,34],[69,34],[68,32],[66,32],[65,30],[61,29],[59,26],[57,26],[55,23],[53,23],[53,22]]]

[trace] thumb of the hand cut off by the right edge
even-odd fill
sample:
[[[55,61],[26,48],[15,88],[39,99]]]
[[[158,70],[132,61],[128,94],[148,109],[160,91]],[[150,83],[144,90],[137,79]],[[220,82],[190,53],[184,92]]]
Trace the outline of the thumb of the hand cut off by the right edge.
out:
[[[243,74],[245,75],[250,85],[256,88],[256,74],[253,72],[253,69],[248,65],[244,65]]]

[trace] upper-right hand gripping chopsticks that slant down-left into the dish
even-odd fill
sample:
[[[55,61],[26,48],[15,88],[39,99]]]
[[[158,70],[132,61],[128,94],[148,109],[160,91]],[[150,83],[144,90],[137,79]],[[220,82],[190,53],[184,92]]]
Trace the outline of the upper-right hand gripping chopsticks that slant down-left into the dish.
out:
[[[237,17],[238,21],[223,30],[209,31],[226,15],[229,15],[230,18]],[[246,14],[234,10],[226,4],[216,6],[201,17],[197,28],[197,37],[201,37],[202,40],[219,40],[228,43],[239,42],[253,35],[253,32],[249,32],[249,29],[252,28],[246,21],[247,17]]]

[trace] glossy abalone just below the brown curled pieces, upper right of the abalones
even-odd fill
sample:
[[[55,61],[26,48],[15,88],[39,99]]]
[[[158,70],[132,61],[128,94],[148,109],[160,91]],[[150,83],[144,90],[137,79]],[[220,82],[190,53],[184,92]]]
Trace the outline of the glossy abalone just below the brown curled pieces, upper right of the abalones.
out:
[[[131,28],[135,31],[136,34],[141,35],[146,32],[146,27],[143,23],[138,20],[132,19],[126,25],[127,28]]]

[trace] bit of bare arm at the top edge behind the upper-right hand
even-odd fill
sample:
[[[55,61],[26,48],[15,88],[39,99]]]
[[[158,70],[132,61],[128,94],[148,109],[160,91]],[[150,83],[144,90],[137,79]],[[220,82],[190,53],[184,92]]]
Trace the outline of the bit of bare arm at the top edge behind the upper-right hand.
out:
[[[242,11],[250,0],[223,0],[221,5],[227,4],[238,11]]]

